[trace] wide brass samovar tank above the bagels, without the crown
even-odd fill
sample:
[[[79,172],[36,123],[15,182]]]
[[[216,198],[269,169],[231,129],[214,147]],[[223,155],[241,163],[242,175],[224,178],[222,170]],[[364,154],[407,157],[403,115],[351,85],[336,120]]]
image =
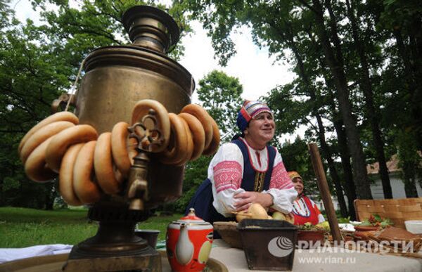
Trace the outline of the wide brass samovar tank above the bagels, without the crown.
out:
[[[191,74],[162,53],[136,46],[98,48],[85,60],[86,74],[77,93],[76,114],[98,133],[117,122],[130,123],[141,99],[156,100],[179,113],[190,103]]]

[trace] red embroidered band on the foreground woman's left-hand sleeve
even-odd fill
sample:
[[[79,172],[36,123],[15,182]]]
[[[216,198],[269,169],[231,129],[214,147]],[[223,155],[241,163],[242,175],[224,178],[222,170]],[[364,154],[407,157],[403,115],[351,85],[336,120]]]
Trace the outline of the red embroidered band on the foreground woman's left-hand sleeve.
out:
[[[222,190],[232,188],[234,190],[241,187],[242,166],[236,161],[219,162],[213,168],[214,185],[217,193]]]

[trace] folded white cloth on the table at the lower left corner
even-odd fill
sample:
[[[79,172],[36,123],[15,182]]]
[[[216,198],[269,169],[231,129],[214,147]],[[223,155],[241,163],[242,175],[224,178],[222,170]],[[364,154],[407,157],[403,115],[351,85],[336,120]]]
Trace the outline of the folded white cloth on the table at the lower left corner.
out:
[[[23,248],[0,248],[0,264],[6,261],[24,259],[30,257],[68,253],[72,250],[72,245],[34,245]]]

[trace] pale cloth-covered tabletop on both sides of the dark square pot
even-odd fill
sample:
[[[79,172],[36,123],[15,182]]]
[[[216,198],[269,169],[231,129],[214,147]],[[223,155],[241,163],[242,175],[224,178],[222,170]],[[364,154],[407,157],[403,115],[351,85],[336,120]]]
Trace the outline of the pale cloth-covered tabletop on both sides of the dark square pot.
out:
[[[221,239],[214,240],[210,257],[221,261],[230,272],[248,269],[243,250],[229,247]],[[328,251],[328,250],[327,250]],[[339,249],[340,251],[340,249]],[[293,271],[306,272],[421,272],[422,260],[364,252],[312,252],[296,250]],[[340,264],[343,261],[344,264]],[[346,262],[349,262],[348,264]],[[259,270],[253,270],[259,271]]]

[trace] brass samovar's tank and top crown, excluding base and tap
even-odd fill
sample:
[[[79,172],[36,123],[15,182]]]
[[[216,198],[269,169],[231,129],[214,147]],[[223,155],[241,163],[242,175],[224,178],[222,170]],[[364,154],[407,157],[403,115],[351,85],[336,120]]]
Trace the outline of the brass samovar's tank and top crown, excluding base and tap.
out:
[[[179,29],[170,15],[137,6],[122,20],[133,44],[91,52],[84,60],[85,75],[77,92],[79,122],[90,124],[99,134],[111,131],[117,122],[130,124],[132,109],[142,99],[153,99],[168,112],[179,113],[190,103],[195,88],[191,74],[165,54],[179,39]],[[183,174],[183,166],[162,164],[151,156],[146,209],[177,200]]]

